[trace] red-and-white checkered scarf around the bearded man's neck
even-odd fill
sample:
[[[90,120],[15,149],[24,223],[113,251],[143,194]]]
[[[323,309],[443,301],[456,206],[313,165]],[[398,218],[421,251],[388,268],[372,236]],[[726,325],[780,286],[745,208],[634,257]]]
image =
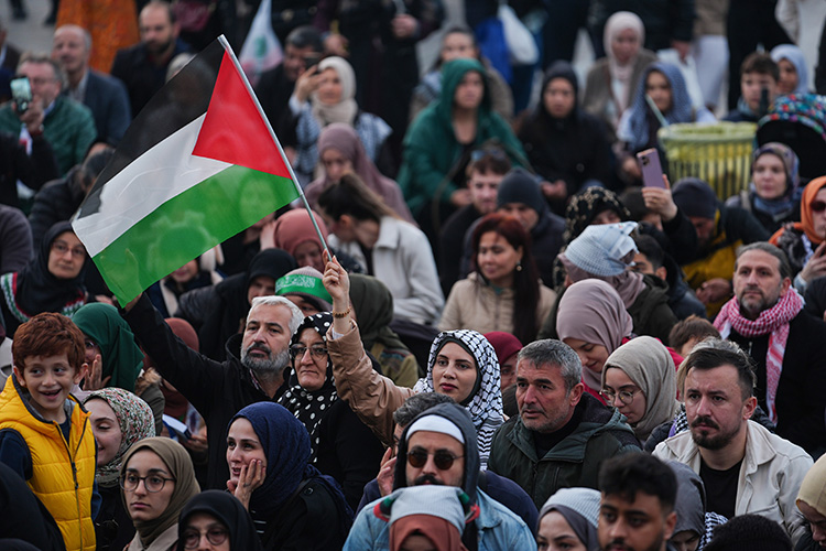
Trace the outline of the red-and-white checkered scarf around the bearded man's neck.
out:
[[[737,302],[737,298],[733,298],[722,306],[714,321],[714,326],[720,332],[722,338],[728,338],[732,328],[747,338],[771,333],[769,349],[765,353],[765,404],[769,408],[769,418],[773,423],[778,422],[774,397],[778,393],[780,372],[783,370],[783,355],[789,338],[789,322],[801,310],[803,310],[803,298],[797,294],[794,288],[790,288],[774,306],[760,312],[757,320],[743,317],[740,314],[740,304]]]

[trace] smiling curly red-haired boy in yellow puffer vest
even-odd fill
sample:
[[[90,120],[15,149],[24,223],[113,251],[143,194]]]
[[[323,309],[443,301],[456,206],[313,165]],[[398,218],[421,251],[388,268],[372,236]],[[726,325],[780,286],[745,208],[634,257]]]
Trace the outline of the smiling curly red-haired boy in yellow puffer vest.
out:
[[[84,335],[43,313],[14,333],[14,375],[0,393],[0,462],[48,509],[66,549],[95,549],[95,437],[89,413],[69,395],[83,378]]]

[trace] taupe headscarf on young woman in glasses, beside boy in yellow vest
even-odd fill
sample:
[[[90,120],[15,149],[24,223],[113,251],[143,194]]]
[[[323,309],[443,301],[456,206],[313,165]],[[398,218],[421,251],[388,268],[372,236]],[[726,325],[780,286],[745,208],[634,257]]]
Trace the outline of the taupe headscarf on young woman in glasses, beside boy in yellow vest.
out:
[[[175,489],[170,497],[170,504],[160,517],[152,520],[134,520],[134,528],[144,547],[149,547],[155,538],[177,523],[178,515],[186,503],[200,493],[198,480],[195,479],[195,469],[186,449],[172,439],[153,436],[144,439],[129,449],[123,456],[120,475],[127,471],[129,460],[141,450],[151,450],[164,462],[170,469],[170,475],[175,479]],[[123,490],[120,493],[123,507],[129,510]]]

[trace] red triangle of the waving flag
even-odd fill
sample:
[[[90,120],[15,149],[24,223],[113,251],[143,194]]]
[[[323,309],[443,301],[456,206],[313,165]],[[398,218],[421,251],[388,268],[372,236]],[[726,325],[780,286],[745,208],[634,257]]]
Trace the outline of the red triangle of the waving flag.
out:
[[[226,52],[193,154],[290,177],[267,125]]]

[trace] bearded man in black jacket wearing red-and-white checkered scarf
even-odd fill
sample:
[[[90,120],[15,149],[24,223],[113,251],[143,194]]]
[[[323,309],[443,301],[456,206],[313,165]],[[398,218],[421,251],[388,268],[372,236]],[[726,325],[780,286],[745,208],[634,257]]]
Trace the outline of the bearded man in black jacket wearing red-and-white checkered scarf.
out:
[[[754,396],[778,435],[817,457],[826,451],[826,324],[803,311],[779,248],[742,247],[735,266],[735,298],[715,327],[754,359]]]

